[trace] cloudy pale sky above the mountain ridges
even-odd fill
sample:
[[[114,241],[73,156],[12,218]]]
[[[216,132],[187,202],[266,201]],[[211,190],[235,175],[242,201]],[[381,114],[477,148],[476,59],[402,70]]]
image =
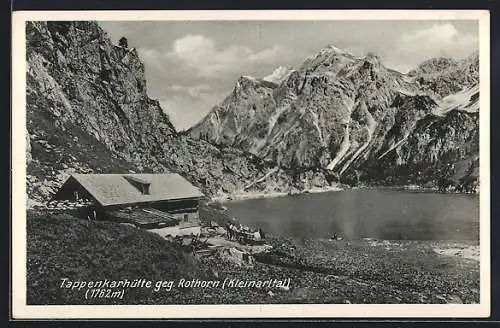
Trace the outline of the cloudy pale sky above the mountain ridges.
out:
[[[148,95],[177,130],[199,122],[242,75],[294,69],[335,45],[355,56],[377,54],[406,73],[432,57],[464,58],[478,49],[477,21],[102,21],[144,62]]]

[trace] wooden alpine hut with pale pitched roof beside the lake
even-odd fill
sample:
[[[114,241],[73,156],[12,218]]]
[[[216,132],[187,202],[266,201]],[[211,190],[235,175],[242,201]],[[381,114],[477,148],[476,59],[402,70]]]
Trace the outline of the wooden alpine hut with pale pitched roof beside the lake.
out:
[[[53,201],[91,202],[95,219],[141,228],[198,219],[203,193],[176,173],[73,174]]]

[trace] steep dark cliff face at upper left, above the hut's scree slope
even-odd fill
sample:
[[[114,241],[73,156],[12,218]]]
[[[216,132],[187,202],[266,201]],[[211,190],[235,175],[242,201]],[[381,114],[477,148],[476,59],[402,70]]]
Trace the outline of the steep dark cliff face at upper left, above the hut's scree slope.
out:
[[[175,134],[159,103],[147,97],[135,49],[113,45],[92,22],[30,23],[26,29],[30,109],[77,124],[127,160]]]

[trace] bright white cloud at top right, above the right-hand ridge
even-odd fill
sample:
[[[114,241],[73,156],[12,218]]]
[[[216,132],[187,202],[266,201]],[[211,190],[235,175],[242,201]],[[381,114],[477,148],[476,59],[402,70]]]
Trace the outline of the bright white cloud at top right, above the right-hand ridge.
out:
[[[402,34],[386,58],[391,66],[407,72],[415,63],[429,58],[459,59],[477,49],[478,35],[462,33],[453,24],[442,23]]]

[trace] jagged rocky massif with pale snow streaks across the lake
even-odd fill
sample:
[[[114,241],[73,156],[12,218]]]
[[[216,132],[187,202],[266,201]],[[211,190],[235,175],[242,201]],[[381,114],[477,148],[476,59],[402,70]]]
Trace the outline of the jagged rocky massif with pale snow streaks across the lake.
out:
[[[469,188],[478,166],[478,56],[408,75],[328,46],[269,84],[241,77],[190,136],[292,172],[358,184]],[[466,186],[467,185],[467,186]]]

